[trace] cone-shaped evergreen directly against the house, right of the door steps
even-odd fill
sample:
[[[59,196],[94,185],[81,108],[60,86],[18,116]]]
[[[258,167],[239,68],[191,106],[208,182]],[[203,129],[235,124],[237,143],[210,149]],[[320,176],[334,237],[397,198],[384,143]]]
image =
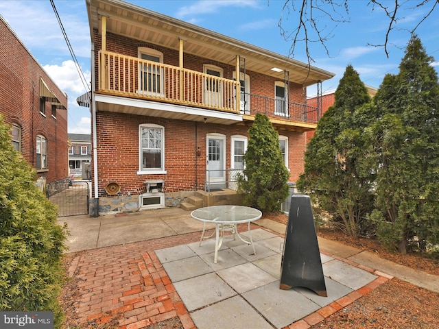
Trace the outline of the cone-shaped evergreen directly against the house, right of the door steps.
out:
[[[243,202],[262,211],[281,210],[288,195],[289,172],[281,153],[279,135],[264,114],[257,113],[250,136],[243,175],[238,176]]]

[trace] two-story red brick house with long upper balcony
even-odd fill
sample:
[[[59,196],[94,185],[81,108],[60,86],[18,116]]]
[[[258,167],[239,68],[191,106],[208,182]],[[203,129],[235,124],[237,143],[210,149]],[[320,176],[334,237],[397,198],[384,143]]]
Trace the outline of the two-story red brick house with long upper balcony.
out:
[[[257,112],[270,118],[290,180],[298,178],[320,111],[307,105],[306,88],[333,73],[124,1],[86,5],[92,93],[78,103],[92,113],[91,213],[224,193]]]

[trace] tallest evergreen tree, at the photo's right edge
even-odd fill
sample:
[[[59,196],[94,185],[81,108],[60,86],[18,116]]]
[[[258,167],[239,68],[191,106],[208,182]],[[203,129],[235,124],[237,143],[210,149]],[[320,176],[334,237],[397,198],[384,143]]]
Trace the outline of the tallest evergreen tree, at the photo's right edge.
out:
[[[379,238],[402,254],[407,243],[439,242],[439,85],[417,36],[412,36],[397,75],[386,75],[375,104],[380,120],[370,127],[377,160]]]

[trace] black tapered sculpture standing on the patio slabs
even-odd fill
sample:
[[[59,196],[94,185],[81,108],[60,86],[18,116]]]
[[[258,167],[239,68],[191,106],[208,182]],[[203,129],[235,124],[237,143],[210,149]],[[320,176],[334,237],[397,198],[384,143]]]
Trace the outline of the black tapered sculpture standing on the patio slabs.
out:
[[[289,206],[285,245],[283,246],[280,289],[311,289],[327,297],[322,260],[318,248],[311,200],[308,195],[294,194]]]

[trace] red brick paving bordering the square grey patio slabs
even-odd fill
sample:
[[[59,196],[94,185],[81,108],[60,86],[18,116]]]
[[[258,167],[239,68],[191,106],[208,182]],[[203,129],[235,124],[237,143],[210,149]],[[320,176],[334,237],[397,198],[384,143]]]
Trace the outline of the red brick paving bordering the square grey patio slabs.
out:
[[[252,228],[258,226],[252,224]],[[239,230],[247,230],[247,226]],[[76,312],[80,322],[86,324],[93,321],[103,326],[108,324],[108,328],[141,329],[178,316],[183,328],[195,328],[154,250],[193,243],[199,239],[200,232],[194,232],[76,253],[68,273],[79,279],[81,293]],[[287,327],[289,329],[309,328],[318,324],[392,279],[392,276],[385,273],[325,254],[370,271],[377,275],[377,279],[294,322]]]

